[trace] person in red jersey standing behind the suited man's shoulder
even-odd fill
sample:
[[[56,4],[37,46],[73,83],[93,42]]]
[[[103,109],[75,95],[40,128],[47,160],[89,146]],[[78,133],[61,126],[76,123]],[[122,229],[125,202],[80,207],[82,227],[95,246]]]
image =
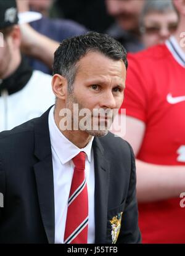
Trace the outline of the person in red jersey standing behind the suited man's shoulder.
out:
[[[136,155],[143,243],[184,243],[185,1],[173,0],[179,25],[165,44],[128,55],[126,134]]]

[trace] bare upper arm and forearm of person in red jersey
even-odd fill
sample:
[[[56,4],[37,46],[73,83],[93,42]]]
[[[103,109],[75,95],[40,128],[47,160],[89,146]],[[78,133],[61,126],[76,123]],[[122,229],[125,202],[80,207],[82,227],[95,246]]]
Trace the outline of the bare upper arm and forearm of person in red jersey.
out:
[[[126,134],[122,138],[130,142],[135,155],[139,152],[144,133],[144,122],[126,117]],[[139,202],[179,197],[185,188],[185,167],[155,165],[136,159],[136,174]]]

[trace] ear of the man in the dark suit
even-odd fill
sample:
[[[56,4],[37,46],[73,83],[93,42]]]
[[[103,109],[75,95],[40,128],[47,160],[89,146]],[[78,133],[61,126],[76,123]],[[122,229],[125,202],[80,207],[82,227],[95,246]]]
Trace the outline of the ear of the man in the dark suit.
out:
[[[52,91],[58,99],[65,101],[67,99],[67,79],[59,74],[52,76]]]

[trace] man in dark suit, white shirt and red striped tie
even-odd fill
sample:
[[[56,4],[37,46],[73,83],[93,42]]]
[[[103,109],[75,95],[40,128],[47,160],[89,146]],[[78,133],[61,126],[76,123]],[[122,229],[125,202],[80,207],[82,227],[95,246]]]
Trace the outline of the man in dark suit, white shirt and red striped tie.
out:
[[[0,242],[141,242],[133,151],[108,132],[126,68],[125,49],[108,35],[60,44],[55,105],[0,134]]]

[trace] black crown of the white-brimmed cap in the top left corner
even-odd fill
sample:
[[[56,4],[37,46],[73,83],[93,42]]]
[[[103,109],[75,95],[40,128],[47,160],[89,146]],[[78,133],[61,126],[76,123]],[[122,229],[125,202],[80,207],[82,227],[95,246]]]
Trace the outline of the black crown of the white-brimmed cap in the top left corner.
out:
[[[0,29],[18,23],[17,4],[15,0],[0,0]]]

